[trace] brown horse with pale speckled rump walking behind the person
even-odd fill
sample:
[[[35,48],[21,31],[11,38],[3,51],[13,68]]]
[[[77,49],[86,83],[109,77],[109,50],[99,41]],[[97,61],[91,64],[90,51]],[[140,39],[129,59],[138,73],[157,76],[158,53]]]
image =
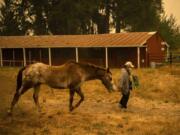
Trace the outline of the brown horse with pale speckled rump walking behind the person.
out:
[[[84,101],[81,85],[85,81],[95,79],[101,80],[109,92],[113,91],[114,83],[109,68],[106,69],[94,64],[77,63],[74,61],[68,61],[59,66],[50,66],[44,63],[27,65],[18,72],[16,92],[8,113],[12,114],[13,108],[20,96],[30,88],[34,88],[33,99],[38,111],[41,111],[38,100],[41,84],[46,84],[56,89],[69,89],[69,111],[71,112]],[[75,93],[80,96],[80,100],[73,106]]]

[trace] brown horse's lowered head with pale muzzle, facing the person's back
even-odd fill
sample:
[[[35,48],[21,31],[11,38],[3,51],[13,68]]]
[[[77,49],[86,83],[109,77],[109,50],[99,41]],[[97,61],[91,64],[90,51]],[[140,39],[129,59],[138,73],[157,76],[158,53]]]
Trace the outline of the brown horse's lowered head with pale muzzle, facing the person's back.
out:
[[[106,70],[100,70],[98,74],[100,77],[99,79],[102,81],[107,90],[109,92],[113,91],[115,85],[113,83],[112,73],[110,72],[109,68],[107,68]]]

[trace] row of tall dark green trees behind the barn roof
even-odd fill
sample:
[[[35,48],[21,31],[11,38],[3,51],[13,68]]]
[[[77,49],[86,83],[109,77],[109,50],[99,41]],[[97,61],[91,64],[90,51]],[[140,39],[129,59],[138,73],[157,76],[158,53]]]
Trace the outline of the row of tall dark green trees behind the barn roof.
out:
[[[162,16],[162,0],[4,0],[0,34],[95,34],[159,31],[172,48],[180,42],[173,16]]]

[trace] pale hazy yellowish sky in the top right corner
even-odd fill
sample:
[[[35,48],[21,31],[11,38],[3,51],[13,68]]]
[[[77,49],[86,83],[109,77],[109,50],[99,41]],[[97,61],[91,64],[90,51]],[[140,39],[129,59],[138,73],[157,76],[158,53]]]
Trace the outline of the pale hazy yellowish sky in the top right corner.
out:
[[[168,16],[173,14],[177,24],[180,25],[180,0],[164,0],[164,8],[166,14]]]

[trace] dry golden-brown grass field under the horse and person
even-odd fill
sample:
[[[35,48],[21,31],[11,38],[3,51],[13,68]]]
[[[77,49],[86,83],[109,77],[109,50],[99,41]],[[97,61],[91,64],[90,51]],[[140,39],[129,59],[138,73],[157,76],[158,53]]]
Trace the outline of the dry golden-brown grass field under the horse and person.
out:
[[[140,87],[131,92],[128,109],[118,108],[119,92],[108,93],[100,81],[83,84],[85,101],[68,111],[68,90],[43,85],[38,113],[33,89],[20,99],[13,117],[7,109],[18,68],[0,68],[0,135],[178,135],[180,133],[180,67],[139,69]],[[118,82],[120,69],[112,69]],[[75,95],[75,102],[79,97]]]

